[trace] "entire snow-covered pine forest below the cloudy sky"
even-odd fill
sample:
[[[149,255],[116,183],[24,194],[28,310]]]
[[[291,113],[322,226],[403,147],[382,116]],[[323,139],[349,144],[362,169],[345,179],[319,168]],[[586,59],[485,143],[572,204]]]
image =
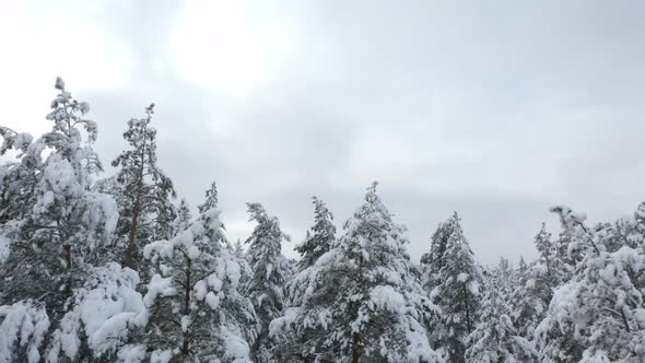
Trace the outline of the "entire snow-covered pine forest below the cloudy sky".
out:
[[[313,197],[292,260],[261,203],[234,243],[215,182],[197,213],[176,195],[154,104],[103,177],[101,124],[55,87],[49,132],[0,128],[1,363],[645,361],[645,203],[596,225],[554,206],[539,258],[492,268],[455,212],[417,265],[375,182],[347,221]]]

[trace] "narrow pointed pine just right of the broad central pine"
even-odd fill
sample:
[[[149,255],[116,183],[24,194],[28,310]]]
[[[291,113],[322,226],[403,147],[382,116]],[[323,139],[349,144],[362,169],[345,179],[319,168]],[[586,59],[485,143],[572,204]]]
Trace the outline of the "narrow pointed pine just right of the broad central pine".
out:
[[[442,268],[431,298],[442,315],[433,340],[449,362],[462,362],[468,335],[474,329],[480,307],[480,268],[455,213],[450,235],[442,256]]]

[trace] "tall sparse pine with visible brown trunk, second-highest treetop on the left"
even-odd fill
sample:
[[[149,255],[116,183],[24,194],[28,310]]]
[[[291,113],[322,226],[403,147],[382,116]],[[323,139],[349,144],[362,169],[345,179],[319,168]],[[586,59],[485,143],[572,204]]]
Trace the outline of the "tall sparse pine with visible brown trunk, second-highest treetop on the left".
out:
[[[121,152],[112,165],[118,167],[121,195],[117,234],[127,244],[124,264],[137,268],[142,247],[155,239],[169,238],[175,219],[173,182],[157,166],[156,130],[150,126],[154,104],[145,108],[145,117],[128,121],[124,139],[130,149]]]

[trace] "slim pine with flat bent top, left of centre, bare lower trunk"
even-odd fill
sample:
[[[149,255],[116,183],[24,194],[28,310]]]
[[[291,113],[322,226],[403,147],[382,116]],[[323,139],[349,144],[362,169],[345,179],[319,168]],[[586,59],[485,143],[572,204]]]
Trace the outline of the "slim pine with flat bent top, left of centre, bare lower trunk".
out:
[[[256,363],[271,361],[271,337],[269,324],[279,317],[284,306],[283,288],[291,271],[282,255],[282,241],[290,237],[280,230],[278,218],[267,213],[260,203],[247,203],[249,221],[257,222],[251,235],[247,260],[251,276],[245,283],[245,295],[255,307],[260,323],[260,331],[251,347],[251,359]]]

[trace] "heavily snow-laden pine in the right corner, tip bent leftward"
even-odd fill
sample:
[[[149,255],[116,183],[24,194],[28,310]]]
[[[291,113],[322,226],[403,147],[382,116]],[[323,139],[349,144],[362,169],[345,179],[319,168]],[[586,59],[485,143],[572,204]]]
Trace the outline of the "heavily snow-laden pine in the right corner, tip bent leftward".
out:
[[[553,294],[536,329],[542,361],[643,362],[645,360],[645,254],[643,245],[612,250],[606,225],[589,229],[586,215],[567,207],[551,211],[571,238],[579,261],[573,278]],[[635,222],[634,222],[635,223]]]

